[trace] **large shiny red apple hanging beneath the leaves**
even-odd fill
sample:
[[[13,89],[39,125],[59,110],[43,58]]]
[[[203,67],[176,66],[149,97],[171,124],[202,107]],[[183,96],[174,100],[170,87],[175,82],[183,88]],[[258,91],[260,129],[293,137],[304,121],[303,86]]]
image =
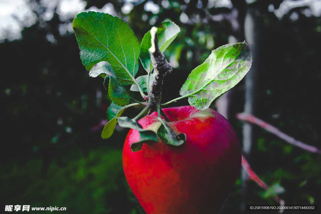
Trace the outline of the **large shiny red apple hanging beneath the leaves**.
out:
[[[192,106],[162,109],[169,126],[185,133],[181,146],[144,143],[140,151],[130,145],[138,140],[131,129],[123,148],[127,182],[147,214],[217,213],[241,167],[241,150],[230,123],[213,109]],[[138,121],[144,129],[160,126],[157,112]]]

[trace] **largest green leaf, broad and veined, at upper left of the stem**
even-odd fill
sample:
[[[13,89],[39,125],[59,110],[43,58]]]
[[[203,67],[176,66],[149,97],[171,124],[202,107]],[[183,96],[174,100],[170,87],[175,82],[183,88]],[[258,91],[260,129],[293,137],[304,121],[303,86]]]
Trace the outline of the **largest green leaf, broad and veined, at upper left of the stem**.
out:
[[[87,70],[108,61],[123,85],[134,82],[140,45],[123,20],[106,13],[79,13],[73,21],[80,58]]]

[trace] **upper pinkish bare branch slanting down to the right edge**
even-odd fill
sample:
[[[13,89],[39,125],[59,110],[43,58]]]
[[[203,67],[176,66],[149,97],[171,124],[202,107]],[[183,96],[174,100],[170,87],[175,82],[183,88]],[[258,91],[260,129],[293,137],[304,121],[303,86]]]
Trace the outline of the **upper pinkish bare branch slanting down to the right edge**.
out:
[[[279,138],[287,141],[288,143],[291,143],[292,145],[295,145],[297,147],[300,147],[301,149],[310,151],[310,152],[314,152],[314,153],[318,153],[321,154],[321,150],[319,150],[317,147],[314,146],[310,146],[308,144],[305,144],[301,141],[297,141],[295,140],[293,137],[281,132],[279,129],[275,128],[274,126],[272,126],[271,124],[266,123],[265,121],[253,116],[253,115],[249,115],[247,113],[239,113],[236,115],[236,117],[240,120],[243,121],[247,121],[253,124],[256,124],[258,126],[261,126],[262,128],[266,129],[267,131],[275,134],[276,136],[278,136]]]

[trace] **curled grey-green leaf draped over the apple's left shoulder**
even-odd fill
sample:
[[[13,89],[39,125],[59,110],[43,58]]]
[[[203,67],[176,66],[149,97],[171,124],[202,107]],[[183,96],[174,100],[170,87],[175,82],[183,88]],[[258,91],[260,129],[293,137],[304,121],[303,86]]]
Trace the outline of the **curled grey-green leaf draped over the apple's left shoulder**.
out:
[[[124,128],[135,129],[139,132],[139,140],[136,142],[132,142],[130,145],[130,149],[132,152],[136,152],[142,150],[143,143],[148,142],[158,142],[158,137],[155,132],[152,130],[144,130],[140,124],[136,121],[129,119],[128,117],[118,117],[117,118],[118,125]]]

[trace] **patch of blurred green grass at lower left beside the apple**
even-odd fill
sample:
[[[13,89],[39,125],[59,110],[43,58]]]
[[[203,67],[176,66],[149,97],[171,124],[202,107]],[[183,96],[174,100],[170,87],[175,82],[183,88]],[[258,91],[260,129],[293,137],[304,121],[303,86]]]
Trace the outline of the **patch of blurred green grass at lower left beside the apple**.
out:
[[[2,177],[6,184],[3,191],[14,197],[6,199],[5,203],[66,206],[67,213],[135,213],[140,210],[127,188],[119,149],[102,147],[89,151],[86,156],[77,153],[78,157],[70,159],[65,166],[53,158],[45,171],[46,163],[42,158],[32,158],[23,167],[17,162],[8,164],[3,169],[6,172]],[[17,180],[17,175],[23,181]]]

